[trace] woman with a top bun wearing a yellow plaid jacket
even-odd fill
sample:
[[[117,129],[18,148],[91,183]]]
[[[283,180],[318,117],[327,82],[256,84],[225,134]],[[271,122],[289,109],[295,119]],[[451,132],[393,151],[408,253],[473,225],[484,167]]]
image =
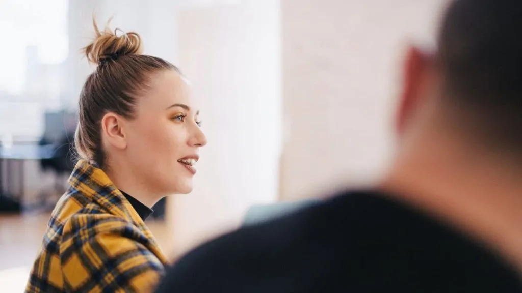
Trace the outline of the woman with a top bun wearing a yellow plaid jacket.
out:
[[[157,201],[192,190],[201,132],[191,90],[140,37],[108,30],[85,48],[98,66],[79,99],[81,158],[57,203],[27,292],[150,291],[167,259],[145,226]]]

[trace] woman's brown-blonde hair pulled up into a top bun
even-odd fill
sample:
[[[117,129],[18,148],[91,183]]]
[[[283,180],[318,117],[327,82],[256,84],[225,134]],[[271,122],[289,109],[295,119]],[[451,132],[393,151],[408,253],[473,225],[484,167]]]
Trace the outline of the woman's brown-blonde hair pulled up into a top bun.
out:
[[[141,38],[135,32],[116,35],[116,31],[100,31],[93,21],[96,39],[84,48],[96,70],[87,78],[80,93],[76,152],[80,158],[104,167],[101,147],[101,119],[108,112],[134,118],[139,94],[148,88],[153,72],[180,70],[168,61],[141,55]]]

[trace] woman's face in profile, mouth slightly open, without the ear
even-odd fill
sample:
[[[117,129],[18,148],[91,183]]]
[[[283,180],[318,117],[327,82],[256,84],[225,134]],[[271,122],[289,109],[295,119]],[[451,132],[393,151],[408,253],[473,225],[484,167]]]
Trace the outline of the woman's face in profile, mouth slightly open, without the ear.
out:
[[[126,159],[140,183],[156,194],[191,192],[207,140],[187,81],[173,70],[157,72],[136,102],[135,118],[126,121]]]

